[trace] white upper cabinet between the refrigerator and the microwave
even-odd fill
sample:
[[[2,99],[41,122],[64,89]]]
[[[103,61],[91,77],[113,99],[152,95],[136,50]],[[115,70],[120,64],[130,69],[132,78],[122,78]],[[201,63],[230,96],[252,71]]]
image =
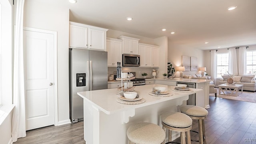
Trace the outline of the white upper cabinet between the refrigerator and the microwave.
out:
[[[108,67],[117,67],[117,62],[122,64],[122,40],[107,38]]]

